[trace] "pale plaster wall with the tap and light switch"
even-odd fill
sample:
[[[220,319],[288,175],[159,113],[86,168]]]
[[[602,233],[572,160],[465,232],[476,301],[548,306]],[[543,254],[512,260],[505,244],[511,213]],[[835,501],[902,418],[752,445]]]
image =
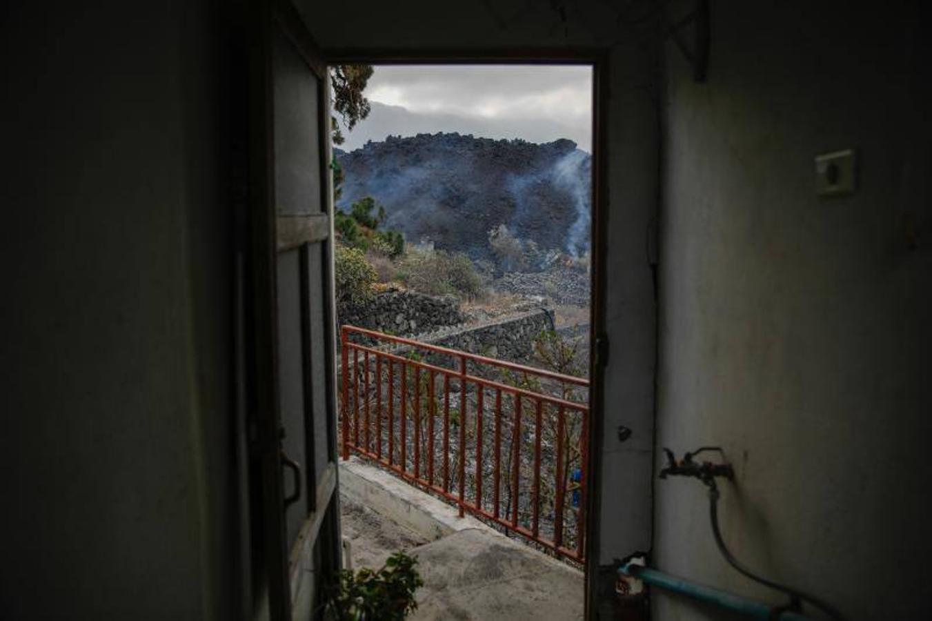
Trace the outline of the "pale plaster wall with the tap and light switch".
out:
[[[666,54],[657,447],[725,449],[720,521],[748,566],[848,619],[928,618],[928,16],[714,7],[706,84]],[[846,147],[857,192],[817,198],[816,155]],[[657,483],[654,528],[657,568],[785,601],[721,559],[698,481]]]

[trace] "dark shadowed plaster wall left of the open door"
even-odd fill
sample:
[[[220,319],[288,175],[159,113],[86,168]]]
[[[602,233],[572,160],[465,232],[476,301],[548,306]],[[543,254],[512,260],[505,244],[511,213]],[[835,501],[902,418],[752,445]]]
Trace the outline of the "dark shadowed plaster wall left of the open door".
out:
[[[3,12],[3,614],[230,618],[216,16]]]

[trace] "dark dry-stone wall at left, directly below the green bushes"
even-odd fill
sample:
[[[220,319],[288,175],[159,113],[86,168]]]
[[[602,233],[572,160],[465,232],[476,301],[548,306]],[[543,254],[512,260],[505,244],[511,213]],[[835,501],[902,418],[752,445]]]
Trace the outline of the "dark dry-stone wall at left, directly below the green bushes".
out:
[[[367,304],[340,316],[339,323],[410,336],[459,325],[466,315],[453,296],[433,297],[392,289],[373,297]]]

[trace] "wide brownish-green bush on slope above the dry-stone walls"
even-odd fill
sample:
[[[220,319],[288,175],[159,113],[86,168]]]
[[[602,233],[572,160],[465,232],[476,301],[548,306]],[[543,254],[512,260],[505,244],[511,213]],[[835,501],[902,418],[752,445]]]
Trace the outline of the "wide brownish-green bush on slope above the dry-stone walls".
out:
[[[398,278],[408,288],[431,296],[455,294],[473,299],[486,294],[473,260],[443,250],[409,250],[399,262]]]

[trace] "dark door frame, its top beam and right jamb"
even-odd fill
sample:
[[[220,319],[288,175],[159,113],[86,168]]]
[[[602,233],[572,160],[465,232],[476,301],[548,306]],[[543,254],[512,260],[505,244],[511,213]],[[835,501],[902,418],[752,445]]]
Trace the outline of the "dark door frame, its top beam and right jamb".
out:
[[[336,64],[576,64],[593,69],[592,79],[592,275],[589,322],[590,424],[587,443],[585,511],[585,611],[595,618],[598,592],[598,550],[601,515],[602,438],[604,437],[604,378],[608,338],[606,320],[606,250],[609,161],[608,110],[609,48],[323,48],[327,66]]]

